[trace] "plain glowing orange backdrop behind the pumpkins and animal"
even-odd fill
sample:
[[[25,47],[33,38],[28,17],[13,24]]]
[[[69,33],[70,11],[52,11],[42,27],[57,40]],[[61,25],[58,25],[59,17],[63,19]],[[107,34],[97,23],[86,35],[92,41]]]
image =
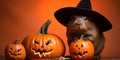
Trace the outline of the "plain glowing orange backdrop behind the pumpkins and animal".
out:
[[[7,44],[15,39],[37,33],[48,19],[52,20],[49,33],[57,34],[66,43],[66,27],[54,17],[62,7],[75,7],[80,0],[0,0],[0,56]],[[106,43],[103,57],[120,57],[120,0],[91,0],[93,10],[106,16],[113,28],[104,32]],[[69,54],[66,43],[66,55]]]

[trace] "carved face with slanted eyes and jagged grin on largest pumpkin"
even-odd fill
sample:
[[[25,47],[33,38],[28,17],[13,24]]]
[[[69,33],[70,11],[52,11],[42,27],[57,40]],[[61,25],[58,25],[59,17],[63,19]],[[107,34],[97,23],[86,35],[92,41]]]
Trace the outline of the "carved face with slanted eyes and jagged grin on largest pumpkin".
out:
[[[52,38],[45,38],[41,39],[43,36],[40,36],[40,39],[35,39],[31,43],[31,49],[34,52],[35,55],[39,55],[40,57],[49,55],[53,52],[53,49],[56,45],[55,37]]]

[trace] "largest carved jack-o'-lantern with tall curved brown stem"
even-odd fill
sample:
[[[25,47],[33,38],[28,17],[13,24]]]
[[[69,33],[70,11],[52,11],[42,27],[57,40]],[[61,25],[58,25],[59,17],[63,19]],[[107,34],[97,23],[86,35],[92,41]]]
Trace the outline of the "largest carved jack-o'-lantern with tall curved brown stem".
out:
[[[57,35],[47,33],[50,22],[48,20],[39,33],[29,35],[23,40],[28,59],[57,58],[65,54],[63,41]]]

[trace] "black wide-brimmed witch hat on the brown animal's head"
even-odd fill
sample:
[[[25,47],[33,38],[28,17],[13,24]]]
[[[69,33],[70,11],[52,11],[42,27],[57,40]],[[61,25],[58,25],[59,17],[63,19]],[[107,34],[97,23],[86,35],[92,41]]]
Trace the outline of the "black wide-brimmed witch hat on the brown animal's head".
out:
[[[112,28],[112,24],[100,13],[93,11],[91,8],[90,0],[81,0],[77,7],[65,7],[57,10],[54,13],[56,19],[67,27],[70,17],[73,15],[86,15],[93,18],[94,24],[100,29],[100,31],[108,31]]]

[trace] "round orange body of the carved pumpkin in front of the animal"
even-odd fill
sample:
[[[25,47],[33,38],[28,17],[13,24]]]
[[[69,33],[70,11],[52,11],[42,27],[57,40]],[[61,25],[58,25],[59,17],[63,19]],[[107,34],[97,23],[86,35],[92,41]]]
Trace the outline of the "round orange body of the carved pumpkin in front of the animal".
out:
[[[73,59],[91,59],[94,55],[94,46],[89,40],[72,41],[70,55]]]

